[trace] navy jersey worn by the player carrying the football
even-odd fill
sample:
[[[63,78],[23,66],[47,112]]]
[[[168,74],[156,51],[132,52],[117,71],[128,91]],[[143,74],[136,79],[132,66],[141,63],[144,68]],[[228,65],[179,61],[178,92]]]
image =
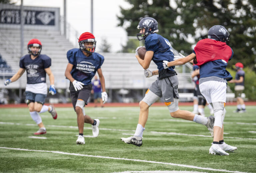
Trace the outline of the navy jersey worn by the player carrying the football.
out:
[[[153,51],[152,60],[157,65],[159,71],[163,70],[163,60],[173,61],[174,53],[171,43],[158,34],[150,34],[145,39],[145,47],[147,51]],[[174,71],[175,66],[168,68],[169,71]]]

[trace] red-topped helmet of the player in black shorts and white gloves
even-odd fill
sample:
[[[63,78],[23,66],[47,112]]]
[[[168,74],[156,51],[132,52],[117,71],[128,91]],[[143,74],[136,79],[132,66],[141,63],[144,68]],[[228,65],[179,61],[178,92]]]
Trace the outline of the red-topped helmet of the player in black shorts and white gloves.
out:
[[[92,53],[95,51],[96,48],[96,41],[95,37],[92,33],[85,32],[81,34],[81,36],[78,39],[79,48],[87,53]],[[91,46],[86,46],[86,43],[92,43]]]

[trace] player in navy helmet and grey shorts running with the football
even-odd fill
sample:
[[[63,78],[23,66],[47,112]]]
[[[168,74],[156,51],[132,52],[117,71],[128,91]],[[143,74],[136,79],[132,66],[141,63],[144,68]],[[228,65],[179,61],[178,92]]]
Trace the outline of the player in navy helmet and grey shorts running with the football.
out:
[[[138,56],[138,49],[136,49],[136,58],[140,65],[145,69],[144,74],[146,77],[152,75],[159,75],[157,80],[147,90],[145,97],[140,101],[139,121],[134,133],[134,136],[128,138],[121,138],[122,141],[136,146],[142,145],[142,134],[145,130],[145,125],[148,119],[149,107],[158,99],[163,97],[165,105],[170,111],[173,118],[181,118],[185,120],[194,121],[196,123],[206,125],[206,127],[213,131],[214,117],[202,117],[193,114],[189,111],[180,110],[178,107],[178,78],[177,73],[174,71],[175,66],[167,69],[163,67],[163,60],[173,61],[174,54],[170,42],[162,36],[156,34],[158,32],[158,23],[151,17],[141,19],[137,29],[140,33],[137,34],[138,40],[145,40],[146,54],[144,60]],[[151,60],[157,65],[158,70],[148,70]]]

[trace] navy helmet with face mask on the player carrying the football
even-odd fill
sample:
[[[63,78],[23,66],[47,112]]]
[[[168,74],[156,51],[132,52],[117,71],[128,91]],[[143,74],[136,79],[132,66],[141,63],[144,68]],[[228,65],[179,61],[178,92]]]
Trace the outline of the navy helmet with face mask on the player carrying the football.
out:
[[[137,26],[137,29],[145,28],[144,33],[136,34],[138,40],[145,39],[148,35],[152,33],[158,32],[158,23],[157,21],[152,17],[145,17],[140,20],[139,25]],[[151,31],[149,31],[151,29]]]

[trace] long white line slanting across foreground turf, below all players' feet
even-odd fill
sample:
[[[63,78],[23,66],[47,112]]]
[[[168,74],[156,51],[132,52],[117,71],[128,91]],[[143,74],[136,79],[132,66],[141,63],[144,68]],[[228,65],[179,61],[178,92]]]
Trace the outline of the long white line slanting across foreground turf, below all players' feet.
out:
[[[183,164],[176,164],[176,163],[156,162],[156,161],[150,161],[150,160],[127,159],[127,158],[108,157],[108,156],[94,156],[94,155],[87,155],[87,154],[67,153],[67,152],[62,152],[62,151],[47,151],[47,150],[34,150],[34,149],[9,148],[9,147],[0,147],[0,148],[20,150],[20,151],[48,152],[48,153],[57,153],[57,154],[66,154],[66,155],[75,155],[75,156],[96,157],[96,158],[114,159],[114,160],[128,160],[128,161],[135,161],[135,162],[157,163],[157,164],[180,166],[180,167],[187,167],[187,168],[194,168],[194,169],[203,169],[203,170],[209,170],[209,171],[248,173],[248,172],[240,172],[240,171],[229,171],[229,170],[225,170],[225,169],[204,168],[204,167],[183,165]]]

